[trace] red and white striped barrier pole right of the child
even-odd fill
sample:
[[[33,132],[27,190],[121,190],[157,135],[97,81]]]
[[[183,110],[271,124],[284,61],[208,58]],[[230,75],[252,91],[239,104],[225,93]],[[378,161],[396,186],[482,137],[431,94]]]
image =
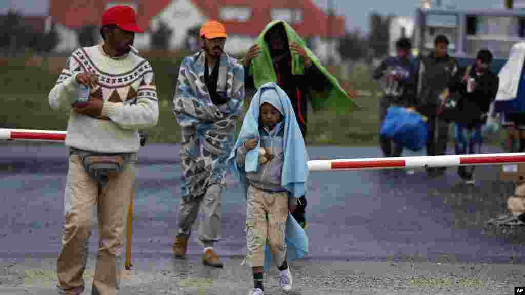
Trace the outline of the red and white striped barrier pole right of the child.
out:
[[[471,165],[505,165],[518,163],[525,163],[525,153],[315,160],[308,162],[308,170],[310,172],[336,170],[384,170]]]

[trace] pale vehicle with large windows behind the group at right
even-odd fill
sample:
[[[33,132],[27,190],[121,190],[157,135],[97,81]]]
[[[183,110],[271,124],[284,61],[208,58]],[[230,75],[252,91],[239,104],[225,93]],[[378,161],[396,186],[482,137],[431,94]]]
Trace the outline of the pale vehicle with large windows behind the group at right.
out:
[[[499,72],[514,43],[525,40],[525,10],[521,9],[416,9],[414,51],[426,55],[434,38],[450,41],[450,55],[460,66],[471,64],[480,49],[492,51],[492,70]]]

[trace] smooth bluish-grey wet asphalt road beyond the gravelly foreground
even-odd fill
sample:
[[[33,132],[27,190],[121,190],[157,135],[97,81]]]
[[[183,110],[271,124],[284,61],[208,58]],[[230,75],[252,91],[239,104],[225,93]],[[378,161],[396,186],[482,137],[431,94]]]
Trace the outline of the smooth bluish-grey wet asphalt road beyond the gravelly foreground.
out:
[[[500,151],[486,148],[484,152]],[[309,148],[309,155],[312,160],[376,157],[380,156],[380,150],[315,147]],[[423,155],[423,152],[404,155]],[[148,257],[150,262],[141,262],[138,269],[151,263],[157,267],[164,263],[187,263],[202,268],[198,263],[202,248],[194,239],[188,248],[189,261],[173,262],[170,258],[180,204],[179,161],[178,146],[147,145],[141,150],[132,252],[134,265]],[[311,269],[313,261],[332,261],[330,265],[341,261],[353,264],[369,261],[368,267],[374,268],[374,264],[388,267],[387,263],[418,261],[419,264],[519,266],[525,261],[521,230],[503,233],[486,225],[490,218],[506,213],[508,188],[498,181],[499,169],[498,166],[478,167],[474,187],[461,183],[455,168],[448,168],[445,175],[432,179],[423,170],[416,170],[414,174],[404,170],[311,173],[307,194],[310,253],[296,265]],[[9,259],[20,261],[31,257],[33,260],[29,260],[33,262],[39,257],[47,261],[43,262],[43,269],[53,268],[64,221],[66,171],[63,146],[0,146],[0,266],[5,268],[4,272],[5,264],[13,263]],[[223,192],[224,241],[218,243],[216,249],[226,264],[232,261],[235,272],[239,271],[238,262],[245,252],[246,205],[239,187],[230,180]],[[97,238],[96,219],[93,219],[90,239],[93,254]],[[375,268],[384,272],[385,266]],[[188,265],[177,268],[188,267],[192,268]],[[6,281],[4,279],[4,285]],[[344,284],[342,288],[344,290]],[[305,289],[302,293],[308,292]]]

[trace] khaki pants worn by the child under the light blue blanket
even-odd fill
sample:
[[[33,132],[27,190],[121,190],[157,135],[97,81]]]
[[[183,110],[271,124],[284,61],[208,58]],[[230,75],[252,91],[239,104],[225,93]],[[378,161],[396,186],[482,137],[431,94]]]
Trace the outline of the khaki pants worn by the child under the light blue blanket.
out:
[[[277,267],[286,259],[285,230],[288,193],[262,191],[248,187],[246,203],[246,259],[249,267],[263,267],[266,240]]]

